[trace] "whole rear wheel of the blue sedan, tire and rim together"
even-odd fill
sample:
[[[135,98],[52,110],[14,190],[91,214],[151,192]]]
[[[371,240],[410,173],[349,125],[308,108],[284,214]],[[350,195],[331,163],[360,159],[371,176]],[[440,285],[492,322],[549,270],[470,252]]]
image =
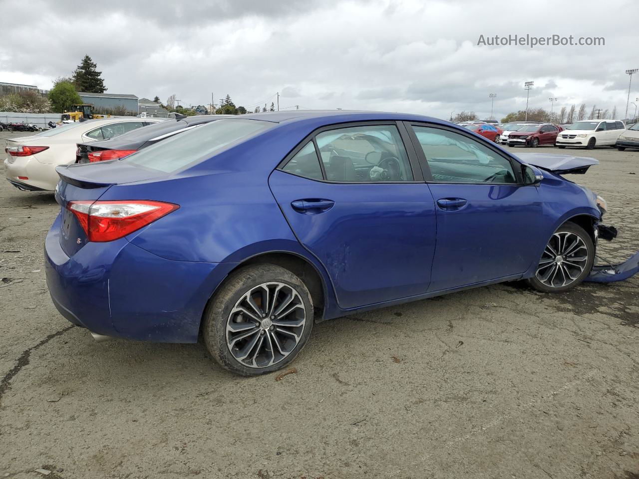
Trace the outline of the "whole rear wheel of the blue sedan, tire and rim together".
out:
[[[266,315],[258,314],[265,301]],[[277,318],[282,305],[284,316]],[[311,335],[313,319],[311,294],[300,278],[275,264],[247,266],[231,273],[208,302],[204,344],[224,369],[259,376],[295,359]]]

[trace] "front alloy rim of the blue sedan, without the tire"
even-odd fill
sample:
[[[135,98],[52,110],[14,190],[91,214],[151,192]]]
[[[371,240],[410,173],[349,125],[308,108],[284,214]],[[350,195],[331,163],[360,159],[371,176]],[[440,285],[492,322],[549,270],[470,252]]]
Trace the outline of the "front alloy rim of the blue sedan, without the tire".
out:
[[[581,276],[588,262],[588,248],[580,236],[560,231],[551,236],[535,277],[548,287],[564,287]]]

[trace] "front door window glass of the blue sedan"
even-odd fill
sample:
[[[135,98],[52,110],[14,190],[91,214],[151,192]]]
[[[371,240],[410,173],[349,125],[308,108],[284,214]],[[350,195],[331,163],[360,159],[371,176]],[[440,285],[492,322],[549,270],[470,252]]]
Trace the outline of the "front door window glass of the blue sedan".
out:
[[[438,183],[517,183],[511,162],[459,133],[413,126],[433,181]]]

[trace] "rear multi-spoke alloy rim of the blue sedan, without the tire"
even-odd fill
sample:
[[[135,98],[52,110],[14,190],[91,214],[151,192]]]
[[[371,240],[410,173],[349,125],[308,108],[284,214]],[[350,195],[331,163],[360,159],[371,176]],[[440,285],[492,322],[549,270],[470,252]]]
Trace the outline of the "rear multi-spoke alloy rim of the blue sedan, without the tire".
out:
[[[305,324],[300,293],[282,282],[263,283],[235,303],[226,321],[226,346],[244,366],[269,367],[293,352]]]

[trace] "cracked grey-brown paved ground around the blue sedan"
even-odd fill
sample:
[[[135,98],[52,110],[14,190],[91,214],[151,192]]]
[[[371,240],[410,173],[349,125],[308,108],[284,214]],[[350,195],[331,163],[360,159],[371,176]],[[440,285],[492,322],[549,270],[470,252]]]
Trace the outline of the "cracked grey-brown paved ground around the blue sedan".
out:
[[[599,252],[626,259],[639,152],[574,153],[601,161],[573,179],[619,228]],[[59,207],[1,175],[0,478],[639,478],[639,278],[344,317],[314,328],[296,374],[245,379],[201,344],[70,327],[42,264]]]

